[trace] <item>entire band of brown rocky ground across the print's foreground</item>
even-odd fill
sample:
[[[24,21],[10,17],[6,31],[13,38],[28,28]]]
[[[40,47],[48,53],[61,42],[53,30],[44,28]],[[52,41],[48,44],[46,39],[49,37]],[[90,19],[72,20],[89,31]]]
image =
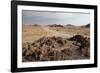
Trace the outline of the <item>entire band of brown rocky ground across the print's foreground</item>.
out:
[[[89,59],[90,38],[42,37],[33,43],[23,43],[22,58],[23,62]]]

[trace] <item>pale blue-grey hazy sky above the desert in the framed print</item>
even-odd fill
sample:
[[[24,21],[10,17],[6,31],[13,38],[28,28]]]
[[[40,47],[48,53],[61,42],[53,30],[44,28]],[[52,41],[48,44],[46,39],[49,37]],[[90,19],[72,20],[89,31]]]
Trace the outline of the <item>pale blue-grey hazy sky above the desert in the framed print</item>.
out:
[[[90,22],[90,14],[67,12],[43,12],[33,10],[22,11],[22,22],[30,24],[73,24],[86,25]]]

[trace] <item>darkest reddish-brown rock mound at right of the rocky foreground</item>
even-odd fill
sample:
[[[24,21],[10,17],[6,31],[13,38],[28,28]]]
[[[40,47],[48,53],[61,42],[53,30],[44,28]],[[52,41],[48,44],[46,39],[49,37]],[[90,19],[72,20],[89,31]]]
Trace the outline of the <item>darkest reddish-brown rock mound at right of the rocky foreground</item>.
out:
[[[75,35],[69,38],[71,41],[75,41],[74,45],[79,46],[80,53],[86,57],[90,57],[90,39],[83,37],[82,35]]]

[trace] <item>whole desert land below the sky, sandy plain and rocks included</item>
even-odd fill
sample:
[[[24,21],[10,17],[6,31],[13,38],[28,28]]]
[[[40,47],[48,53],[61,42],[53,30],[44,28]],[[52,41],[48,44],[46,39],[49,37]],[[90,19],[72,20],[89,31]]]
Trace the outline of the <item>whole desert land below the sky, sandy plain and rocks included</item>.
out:
[[[90,24],[23,24],[22,38],[22,62],[90,59]]]

